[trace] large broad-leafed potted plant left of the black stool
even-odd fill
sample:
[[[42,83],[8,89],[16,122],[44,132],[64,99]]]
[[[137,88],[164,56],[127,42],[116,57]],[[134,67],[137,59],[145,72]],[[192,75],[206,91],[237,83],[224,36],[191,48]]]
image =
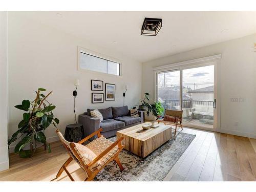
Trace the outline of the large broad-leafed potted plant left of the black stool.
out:
[[[55,105],[50,104],[46,99],[52,93],[48,93],[46,96],[41,92],[46,89],[38,88],[36,92],[36,98],[33,101],[23,100],[22,104],[14,106],[19,110],[26,111],[23,114],[23,119],[18,123],[18,131],[16,131],[11,139],[8,140],[8,147],[18,138],[22,138],[15,148],[14,152],[19,153],[20,157],[27,158],[32,157],[37,146],[37,142],[42,143],[48,148],[48,152],[51,152],[50,144],[46,141],[44,131],[50,124],[56,127],[59,123],[57,118],[54,118],[52,111],[55,109]],[[30,145],[30,150],[25,150],[25,147]]]

